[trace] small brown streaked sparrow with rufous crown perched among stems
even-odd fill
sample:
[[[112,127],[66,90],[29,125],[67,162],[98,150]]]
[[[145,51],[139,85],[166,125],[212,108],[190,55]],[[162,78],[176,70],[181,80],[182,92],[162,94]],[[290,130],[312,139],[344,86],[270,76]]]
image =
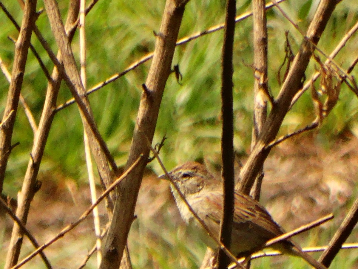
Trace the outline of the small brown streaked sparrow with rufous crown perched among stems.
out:
[[[222,216],[222,181],[215,179],[204,165],[197,162],[187,162],[175,167],[169,172],[184,197],[204,221],[211,232],[219,237],[219,226]],[[167,176],[159,176],[168,179]],[[187,205],[180,198],[178,192],[171,184],[176,205],[184,221],[194,221],[202,228],[200,223],[189,211]],[[233,216],[231,252],[238,258],[246,257],[260,250],[266,241],[285,233],[285,231],[272,219],[269,212],[256,200],[245,194],[235,192],[235,210]],[[213,249],[217,247],[209,244]],[[312,266],[320,269],[326,268],[307,253],[302,252],[291,240],[281,241],[273,246],[274,249],[295,256],[301,256]]]

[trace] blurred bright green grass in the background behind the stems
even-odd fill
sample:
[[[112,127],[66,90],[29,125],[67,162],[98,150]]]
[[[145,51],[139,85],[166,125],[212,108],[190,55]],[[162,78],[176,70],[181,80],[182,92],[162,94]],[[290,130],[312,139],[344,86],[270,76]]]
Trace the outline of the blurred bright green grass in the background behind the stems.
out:
[[[286,1],[280,4],[290,18],[304,31],[307,29],[319,1]],[[63,16],[68,1],[61,1]],[[4,5],[20,24],[22,13],[16,1],[5,1]],[[186,6],[179,38],[202,31],[224,21],[225,1],[189,1]],[[42,8],[43,3],[38,3]],[[238,1],[237,14],[249,11],[251,1]],[[86,17],[87,39],[87,85],[91,87],[107,79],[116,72],[123,71],[132,62],[153,51],[155,37],[164,10],[163,1],[98,1]],[[329,54],[344,34],[358,19],[358,1],[342,1],[321,37],[319,47]],[[267,12],[269,33],[269,87],[274,96],[279,92],[276,79],[277,71],[284,60],[285,31],[289,30],[289,40],[294,50],[300,46],[301,34],[282,16],[277,9]],[[37,27],[54,51],[54,42],[45,14],[40,15]],[[183,85],[170,75],[166,84],[160,108],[154,143],[160,142],[166,135],[168,140],[161,150],[161,158],[168,168],[187,160],[200,159],[208,154],[220,152],[220,77],[221,46],[223,31],[218,31],[195,39],[176,48],[173,65],[179,64],[183,74]],[[234,112],[235,112],[235,150],[240,153],[249,151],[253,109],[253,62],[252,18],[239,22],[236,27],[234,43]],[[14,44],[8,36],[17,37],[18,32],[0,11],[0,56],[11,72]],[[39,52],[48,70],[53,64],[41,47],[37,38],[32,43]],[[78,33],[74,37],[73,52],[78,60]],[[358,35],[355,34],[335,58],[335,61],[347,69],[358,51]],[[322,61],[325,60],[320,55]],[[98,127],[110,151],[119,166],[124,165],[134,130],[137,109],[141,95],[141,84],[145,82],[150,61],[134,71],[117,79],[89,96]],[[309,79],[319,66],[311,61],[306,71]],[[357,76],[357,69],[352,72]],[[36,121],[40,119],[45,99],[46,79],[37,60],[29,52],[22,94],[31,108]],[[0,114],[6,103],[8,82],[0,76]],[[58,97],[58,104],[71,98],[64,83]],[[342,86],[339,101],[328,118],[320,127],[318,136],[325,143],[340,133],[350,130],[357,133],[357,97]],[[280,134],[304,127],[315,118],[310,93],[305,93],[294,105],[282,124]],[[86,179],[84,162],[83,131],[76,105],[71,105],[55,115],[45,148],[40,174],[48,171],[61,171],[79,183]],[[8,163],[5,193],[15,196],[21,187],[33,143],[33,132],[20,107],[16,115],[13,143],[15,147]],[[161,173],[156,161],[150,163],[153,169]],[[168,239],[169,240],[169,239]],[[174,240],[174,239],[173,239]],[[177,242],[168,242],[174,245]],[[147,246],[152,255],[162,255],[156,246]],[[182,246],[184,249],[186,246]],[[195,267],[200,259],[194,254],[188,268]],[[201,254],[200,254],[201,255]],[[144,256],[134,258],[138,268],[147,265]],[[161,265],[165,268],[163,261]],[[196,264],[196,265],[194,265]],[[267,268],[267,267],[262,267]]]

